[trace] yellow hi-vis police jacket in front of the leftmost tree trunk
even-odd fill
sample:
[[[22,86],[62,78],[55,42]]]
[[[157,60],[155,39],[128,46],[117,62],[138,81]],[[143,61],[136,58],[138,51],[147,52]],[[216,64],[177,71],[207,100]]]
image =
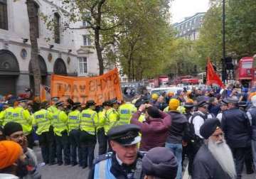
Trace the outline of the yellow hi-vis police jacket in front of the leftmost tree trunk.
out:
[[[41,109],[33,115],[33,126],[37,126],[36,134],[41,135],[43,132],[48,132],[50,129],[53,114],[46,109]]]

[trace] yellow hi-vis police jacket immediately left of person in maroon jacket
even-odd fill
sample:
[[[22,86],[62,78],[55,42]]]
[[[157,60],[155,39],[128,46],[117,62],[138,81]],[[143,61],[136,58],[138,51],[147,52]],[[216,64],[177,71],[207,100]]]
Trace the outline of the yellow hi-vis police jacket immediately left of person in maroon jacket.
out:
[[[132,118],[132,114],[134,114],[134,112],[137,112],[137,108],[134,106],[134,104],[124,103],[121,106],[119,106],[119,121],[117,122],[117,124],[129,124],[130,119]]]

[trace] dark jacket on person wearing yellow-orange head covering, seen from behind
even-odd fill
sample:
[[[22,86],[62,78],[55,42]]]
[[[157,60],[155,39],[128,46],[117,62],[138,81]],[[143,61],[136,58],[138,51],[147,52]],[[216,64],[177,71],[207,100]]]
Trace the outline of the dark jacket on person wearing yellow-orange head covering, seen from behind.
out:
[[[166,142],[182,143],[182,140],[187,139],[189,126],[186,116],[177,111],[170,111],[171,126],[169,127]]]

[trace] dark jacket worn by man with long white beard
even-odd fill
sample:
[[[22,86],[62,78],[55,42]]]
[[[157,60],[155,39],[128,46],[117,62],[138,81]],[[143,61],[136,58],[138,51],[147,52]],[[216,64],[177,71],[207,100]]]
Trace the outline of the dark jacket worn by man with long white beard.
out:
[[[203,144],[193,161],[193,179],[231,179]]]

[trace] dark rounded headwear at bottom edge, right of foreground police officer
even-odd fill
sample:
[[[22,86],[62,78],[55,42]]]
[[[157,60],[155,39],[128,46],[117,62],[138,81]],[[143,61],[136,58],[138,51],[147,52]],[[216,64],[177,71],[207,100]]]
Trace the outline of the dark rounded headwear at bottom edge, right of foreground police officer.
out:
[[[144,179],[175,179],[178,163],[170,150],[156,147],[151,148],[142,159],[142,169],[145,173]]]

